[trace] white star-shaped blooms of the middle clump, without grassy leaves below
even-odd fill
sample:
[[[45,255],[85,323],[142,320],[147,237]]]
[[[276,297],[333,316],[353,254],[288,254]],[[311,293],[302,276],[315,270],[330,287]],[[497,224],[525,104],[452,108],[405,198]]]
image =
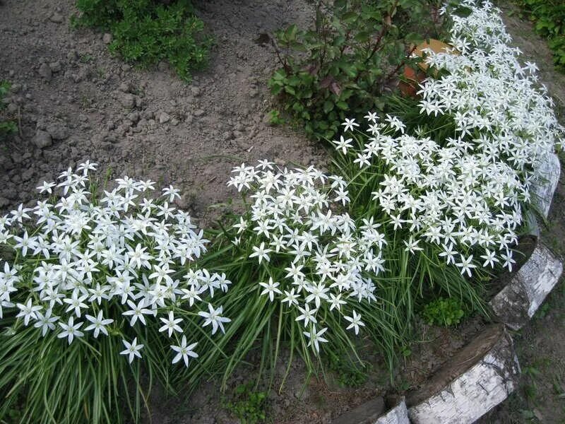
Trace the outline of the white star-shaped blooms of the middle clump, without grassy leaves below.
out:
[[[234,225],[234,244],[251,243],[249,258],[268,269],[257,282],[260,295],[290,310],[316,352],[327,341],[327,314],[343,316],[358,334],[364,322],[355,304],[375,300],[371,276],[383,270],[386,240],[373,220],[357,227],[349,216],[347,182],[312,166],[281,169],[266,160],[233,172],[228,185],[253,199]]]

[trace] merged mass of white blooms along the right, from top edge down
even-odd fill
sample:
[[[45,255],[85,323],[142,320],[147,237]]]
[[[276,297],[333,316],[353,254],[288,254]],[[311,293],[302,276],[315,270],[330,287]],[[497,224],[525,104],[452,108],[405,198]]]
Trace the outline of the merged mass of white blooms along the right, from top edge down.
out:
[[[393,230],[408,228],[408,251],[422,250],[420,242],[436,245],[447,264],[472,276],[477,266],[512,269],[511,248],[535,170],[554,146],[563,146],[564,128],[537,89],[535,65],[521,66],[518,49],[506,44],[510,37],[492,5],[462,4],[470,14],[452,16],[456,52],[430,51],[426,59],[447,72],[429,76],[419,92],[420,113],[450,115],[453,137],[405,134],[397,117],[379,122],[369,113],[360,150],[352,138],[333,143],[355,154],[362,169],[384,165],[373,199]],[[355,120],[343,125],[350,134],[358,131]]]

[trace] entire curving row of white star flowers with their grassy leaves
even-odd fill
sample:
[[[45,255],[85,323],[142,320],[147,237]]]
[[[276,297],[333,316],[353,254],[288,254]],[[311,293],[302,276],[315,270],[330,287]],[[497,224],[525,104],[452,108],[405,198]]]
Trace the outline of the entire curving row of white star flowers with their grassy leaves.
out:
[[[284,348],[284,384],[297,355],[309,374],[362,367],[358,336],[392,369],[421,299],[484,310],[481,282],[515,266],[537,170],[564,135],[495,12],[449,11],[458,54],[429,53],[416,109],[346,119],[333,174],[237,167],[244,213],[212,246],[173,187],[97,187],[88,162],[45,182],[58,196],[0,220],[0,415],[20,401],[38,422],[95,422],[126,399],[138,419],[154,377],[220,374],[225,388],[255,350],[272,383]]]

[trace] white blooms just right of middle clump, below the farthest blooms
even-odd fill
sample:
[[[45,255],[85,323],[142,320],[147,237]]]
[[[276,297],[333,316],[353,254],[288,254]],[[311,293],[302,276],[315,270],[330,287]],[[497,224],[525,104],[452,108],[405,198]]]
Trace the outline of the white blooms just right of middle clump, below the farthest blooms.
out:
[[[502,259],[511,269],[521,202],[528,195],[511,167],[472,155],[454,141],[441,147],[399,134],[386,122],[371,122],[368,132],[355,161],[363,168],[386,166],[373,200],[392,231],[408,229],[408,252],[422,250],[421,241],[437,245],[447,264],[471,276],[477,266],[472,252],[480,248],[483,266],[494,268]]]

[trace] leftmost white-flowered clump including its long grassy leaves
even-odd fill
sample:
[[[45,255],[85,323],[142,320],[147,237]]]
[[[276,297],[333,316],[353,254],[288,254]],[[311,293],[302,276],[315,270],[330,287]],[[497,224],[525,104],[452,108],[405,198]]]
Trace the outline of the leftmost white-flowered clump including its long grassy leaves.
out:
[[[98,196],[94,169],[0,217],[0,420],[18,399],[34,423],[138,420],[153,379],[194,387],[214,370],[202,353],[222,349],[230,319],[210,302],[230,281],[194,264],[207,240],[177,190],[154,199],[154,182],[124,177]]]

